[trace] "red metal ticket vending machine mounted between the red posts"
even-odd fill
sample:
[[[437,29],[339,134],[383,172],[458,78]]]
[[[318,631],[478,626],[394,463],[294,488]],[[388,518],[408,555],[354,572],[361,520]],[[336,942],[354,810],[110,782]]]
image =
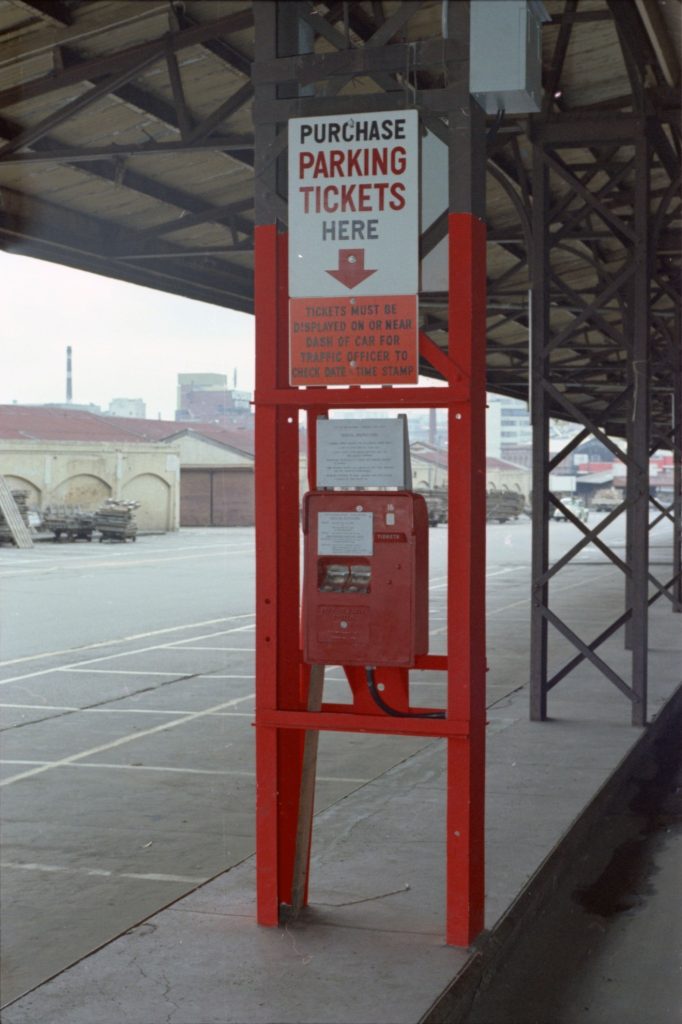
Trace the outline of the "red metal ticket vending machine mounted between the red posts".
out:
[[[303,499],[303,656],[411,668],[428,650],[428,513],[421,495]]]

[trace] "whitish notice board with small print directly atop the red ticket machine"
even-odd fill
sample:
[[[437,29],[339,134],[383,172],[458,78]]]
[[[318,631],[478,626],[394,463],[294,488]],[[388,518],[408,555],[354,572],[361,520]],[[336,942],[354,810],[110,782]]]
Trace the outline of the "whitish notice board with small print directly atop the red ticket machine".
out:
[[[409,487],[407,417],[317,420],[318,487]]]

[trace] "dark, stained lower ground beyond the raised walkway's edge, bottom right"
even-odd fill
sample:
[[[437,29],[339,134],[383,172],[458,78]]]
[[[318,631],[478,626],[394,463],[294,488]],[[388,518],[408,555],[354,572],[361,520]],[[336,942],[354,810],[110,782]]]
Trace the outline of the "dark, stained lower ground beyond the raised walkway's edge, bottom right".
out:
[[[462,1024],[682,1020],[681,725],[678,714],[633,765]]]

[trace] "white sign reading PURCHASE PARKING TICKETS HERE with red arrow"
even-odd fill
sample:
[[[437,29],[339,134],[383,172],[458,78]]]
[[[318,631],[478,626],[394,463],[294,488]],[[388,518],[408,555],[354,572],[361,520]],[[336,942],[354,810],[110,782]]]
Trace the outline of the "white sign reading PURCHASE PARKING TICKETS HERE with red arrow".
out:
[[[290,296],[418,291],[417,111],[292,118]]]

